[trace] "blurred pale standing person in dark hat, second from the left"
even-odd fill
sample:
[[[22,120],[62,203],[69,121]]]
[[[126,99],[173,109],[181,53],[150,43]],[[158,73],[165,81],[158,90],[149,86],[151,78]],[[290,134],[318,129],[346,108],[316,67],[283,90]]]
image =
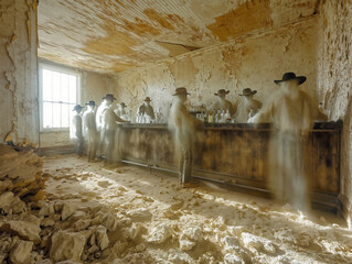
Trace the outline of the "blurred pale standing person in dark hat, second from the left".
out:
[[[88,142],[88,162],[94,162],[99,138],[95,121],[95,101],[86,103],[87,110],[83,113],[83,128]]]

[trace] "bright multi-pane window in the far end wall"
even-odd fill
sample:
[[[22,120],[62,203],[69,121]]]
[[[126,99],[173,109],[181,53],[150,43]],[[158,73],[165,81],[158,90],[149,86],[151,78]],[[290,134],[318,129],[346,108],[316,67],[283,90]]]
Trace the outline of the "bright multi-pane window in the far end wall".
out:
[[[78,100],[79,75],[42,65],[40,67],[41,129],[68,130]]]

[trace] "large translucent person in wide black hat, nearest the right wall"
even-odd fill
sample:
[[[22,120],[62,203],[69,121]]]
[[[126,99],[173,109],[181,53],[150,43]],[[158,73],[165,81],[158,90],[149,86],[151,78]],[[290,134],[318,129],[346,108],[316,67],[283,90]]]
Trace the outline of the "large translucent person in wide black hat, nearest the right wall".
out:
[[[305,76],[286,73],[278,91],[250,122],[273,122],[269,146],[269,187],[278,200],[292,204],[299,210],[309,209],[309,189],[305,175],[305,144],[314,120],[327,120],[318,105],[299,85]]]

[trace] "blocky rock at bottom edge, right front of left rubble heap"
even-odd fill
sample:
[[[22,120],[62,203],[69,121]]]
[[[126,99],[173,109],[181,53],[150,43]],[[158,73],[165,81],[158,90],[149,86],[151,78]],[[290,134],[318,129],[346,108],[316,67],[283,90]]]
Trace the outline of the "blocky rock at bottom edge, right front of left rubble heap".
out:
[[[86,240],[82,234],[58,231],[52,237],[50,257],[54,262],[67,260],[79,262],[85,243]]]

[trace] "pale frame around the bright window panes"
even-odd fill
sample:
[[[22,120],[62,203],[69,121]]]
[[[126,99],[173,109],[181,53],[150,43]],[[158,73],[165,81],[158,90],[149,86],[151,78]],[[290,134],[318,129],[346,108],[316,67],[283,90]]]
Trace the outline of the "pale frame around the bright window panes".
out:
[[[81,78],[82,74],[75,69],[40,63],[39,64],[39,111],[40,111],[40,132],[70,132],[68,128],[44,128],[43,127],[43,69],[57,72],[66,75],[76,76],[76,103],[81,102]],[[62,102],[61,102],[62,103]],[[70,123],[68,123],[70,125]]]

